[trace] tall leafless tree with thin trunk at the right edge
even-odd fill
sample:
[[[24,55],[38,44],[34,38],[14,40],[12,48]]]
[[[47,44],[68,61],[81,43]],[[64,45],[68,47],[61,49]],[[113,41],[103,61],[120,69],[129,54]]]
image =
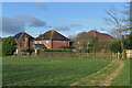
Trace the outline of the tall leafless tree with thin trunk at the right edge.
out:
[[[122,34],[130,32],[131,31],[131,4],[130,3],[124,3],[122,8],[124,10],[120,11],[117,10],[116,8],[110,8],[109,10],[106,11],[106,14],[108,15],[107,18],[103,18],[106,23],[108,25],[113,26],[111,32],[116,33],[117,38],[120,40],[121,42],[121,47],[123,50],[123,57],[125,56],[124,54],[124,45],[122,43]]]

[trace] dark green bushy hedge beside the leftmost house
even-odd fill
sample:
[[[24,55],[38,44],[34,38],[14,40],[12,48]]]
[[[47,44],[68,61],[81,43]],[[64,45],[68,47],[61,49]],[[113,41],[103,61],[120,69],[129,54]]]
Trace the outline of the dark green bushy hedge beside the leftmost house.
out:
[[[4,37],[2,41],[2,55],[11,56],[15,52],[16,43],[13,41],[12,36]]]

